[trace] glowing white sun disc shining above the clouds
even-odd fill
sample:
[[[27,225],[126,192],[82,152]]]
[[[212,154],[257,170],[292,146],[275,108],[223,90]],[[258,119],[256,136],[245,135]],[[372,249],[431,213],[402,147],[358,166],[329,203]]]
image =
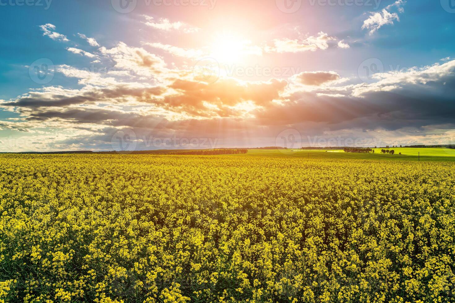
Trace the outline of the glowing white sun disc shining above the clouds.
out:
[[[219,63],[236,64],[249,55],[249,44],[249,40],[238,35],[217,35],[210,45],[210,56]]]

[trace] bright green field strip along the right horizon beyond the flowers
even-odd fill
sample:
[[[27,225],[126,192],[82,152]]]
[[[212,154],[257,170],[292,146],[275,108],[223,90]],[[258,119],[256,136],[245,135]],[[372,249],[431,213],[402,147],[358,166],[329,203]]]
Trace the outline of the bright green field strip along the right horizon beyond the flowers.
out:
[[[455,149],[444,148],[389,148],[394,155],[381,154],[381,149],[375,149],[374,154],[344,153],[340,150],[298,150],[298,149],[250,149],[244,157],[276,156],[312,159],[371,159],[371,160],[405,160],[418,161],[455,161]],[[401,155],[399,155],[401,153]]]

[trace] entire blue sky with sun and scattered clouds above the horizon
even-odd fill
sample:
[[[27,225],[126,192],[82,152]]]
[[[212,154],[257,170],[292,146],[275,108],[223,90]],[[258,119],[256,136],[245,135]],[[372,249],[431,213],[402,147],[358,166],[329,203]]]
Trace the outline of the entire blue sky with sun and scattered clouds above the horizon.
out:
[[[455,144],[455,0],[0,0],[0,152]]]

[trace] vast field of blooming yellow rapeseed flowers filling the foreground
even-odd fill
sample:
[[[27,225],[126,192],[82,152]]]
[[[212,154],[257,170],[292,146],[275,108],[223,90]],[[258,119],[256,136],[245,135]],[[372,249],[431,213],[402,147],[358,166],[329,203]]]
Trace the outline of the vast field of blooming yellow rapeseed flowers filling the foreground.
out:
[[[455,302],[455,164],[0,156],[0,302]]]

